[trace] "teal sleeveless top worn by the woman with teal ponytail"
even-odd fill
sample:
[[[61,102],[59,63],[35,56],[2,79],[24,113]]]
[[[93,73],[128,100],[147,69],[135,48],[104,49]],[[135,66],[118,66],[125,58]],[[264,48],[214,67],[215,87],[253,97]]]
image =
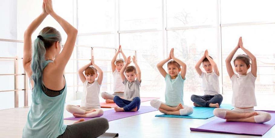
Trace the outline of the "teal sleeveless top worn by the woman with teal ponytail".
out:
[[[48,63],[43,63],[43,69]],[[67,93],[67,84],[62,94],[56,97],[49,97],[41,90],[38,104],[31,104],[31,109],[27,116],[27,123],[23,130],[23,138],[56,138],[63,134],[67,125],[63,124],[64,104]]]

